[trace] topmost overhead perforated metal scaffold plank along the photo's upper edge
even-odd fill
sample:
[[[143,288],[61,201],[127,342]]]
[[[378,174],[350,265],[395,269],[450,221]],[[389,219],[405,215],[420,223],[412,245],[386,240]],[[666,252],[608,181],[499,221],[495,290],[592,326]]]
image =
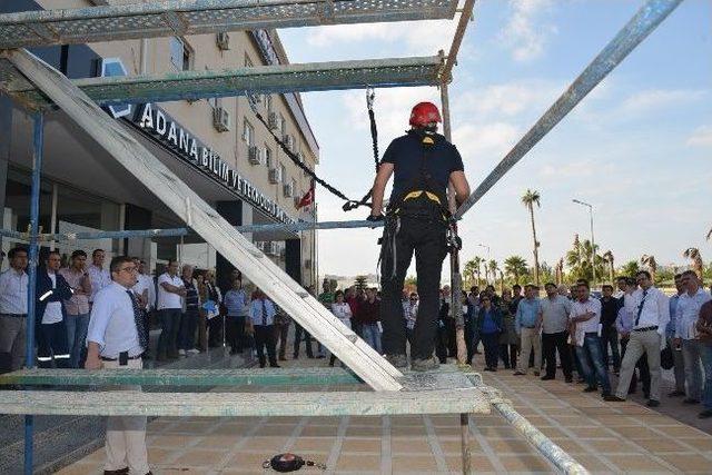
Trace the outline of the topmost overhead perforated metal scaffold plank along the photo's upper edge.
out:
[[[0,49],[266,28],[452,19],[457,0],[164,0],[0,16]]]

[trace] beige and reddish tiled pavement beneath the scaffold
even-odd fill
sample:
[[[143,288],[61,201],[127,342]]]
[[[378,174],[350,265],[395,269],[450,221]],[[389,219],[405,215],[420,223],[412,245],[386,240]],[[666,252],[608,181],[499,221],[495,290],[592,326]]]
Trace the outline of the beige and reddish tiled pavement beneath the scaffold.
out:
[[[295,363],[306,362],[287,365]],[[612,405],[581,386],[504,370],[484,377],[592,473],[712,473],[712,436],[635,402]],[[457,416],[165,417],[149,425],[148,445],[157,474],[260,474],[263,461],[286,451],[326,463],[327,473],[462,473],[458,424]],[[496,413],[473,417],[471,428],[476,472],[553,471]],[[60,474],[101,473],[102,458],[97,451]]]

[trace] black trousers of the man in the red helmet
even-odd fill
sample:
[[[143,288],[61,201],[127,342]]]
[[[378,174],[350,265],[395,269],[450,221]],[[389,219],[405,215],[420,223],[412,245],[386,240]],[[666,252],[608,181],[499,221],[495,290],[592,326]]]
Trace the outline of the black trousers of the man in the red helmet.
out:
[[[421,304],[413,329],[413,359],[433,356],[437,331],[441,271],[447,255],[447,227],[439,217],[404,216],[397,234],[389,243],[388,229],[384,231],[382,248],[382,300],[383,350],[386,355],[405,355],[406,331],[403,325],[400,296],[405,276],[415,254],[415,271],[418,279]],[[393,249],[395,248],[395,256]],[[395,276],[393,269],[395,265]]]

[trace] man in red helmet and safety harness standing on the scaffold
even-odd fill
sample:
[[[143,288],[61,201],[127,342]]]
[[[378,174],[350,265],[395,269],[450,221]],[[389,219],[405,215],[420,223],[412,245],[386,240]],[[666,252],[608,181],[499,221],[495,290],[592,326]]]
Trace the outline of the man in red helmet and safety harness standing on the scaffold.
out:
[[[383,156],[368,217],[369,220],[384,219],[384,191],[394,175],[380,249],[382,346],[392,364],[396,367],[407,366],[400,294],[415,253],[421,304],[411,345],[414,370],[438,367],[433,350],[437,333],[441,273],[443,259],[448,253],[448,184],[455,189],[458,205],[469,196],[459,152],[437,133],[437,122],[442,122],[442,119],[435,105],[421,102],[413,108],[411,130],[390,142]]]

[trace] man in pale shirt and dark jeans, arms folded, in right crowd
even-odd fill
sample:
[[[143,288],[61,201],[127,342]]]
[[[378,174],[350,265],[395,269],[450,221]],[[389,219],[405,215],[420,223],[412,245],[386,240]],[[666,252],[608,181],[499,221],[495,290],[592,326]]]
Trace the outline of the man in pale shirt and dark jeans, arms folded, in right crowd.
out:
[[[603,364],[603,348],[599,336],[601,303],[595,298],[591,298],[591,289],[587,283],[582,281],[576,288],[577,299],[571,306],[570,318],[571,323],[575,324],[574,342],[576,355],[587,383],[584,393],[596,392],[600,384],[602,396],[609,398],[611,397],[611,382],[609,380],[609,372]],[[593,364],[593,368],[589,365],[589,362]]]

